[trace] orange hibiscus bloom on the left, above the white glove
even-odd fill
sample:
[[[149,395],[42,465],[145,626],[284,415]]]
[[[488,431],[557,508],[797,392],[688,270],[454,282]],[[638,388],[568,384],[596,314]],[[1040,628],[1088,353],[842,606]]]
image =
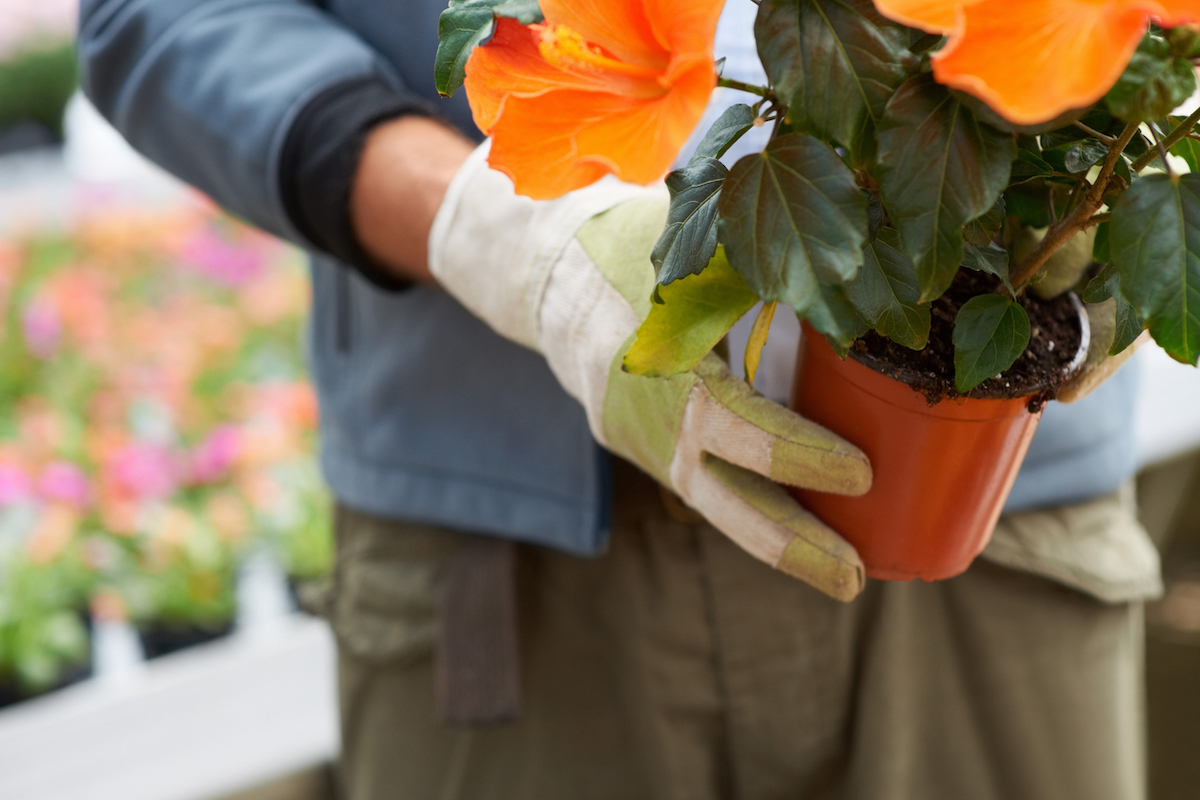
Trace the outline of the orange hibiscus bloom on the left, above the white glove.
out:
[[[716,85],[724,2],[541,0],[545,23],[499,19],[463,84],[488,163],[535,199],[662,178]]]

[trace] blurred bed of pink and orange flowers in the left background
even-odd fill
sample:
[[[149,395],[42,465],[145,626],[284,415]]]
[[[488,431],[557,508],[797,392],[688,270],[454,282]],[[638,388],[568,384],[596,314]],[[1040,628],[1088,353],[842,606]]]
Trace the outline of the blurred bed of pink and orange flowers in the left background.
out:
[[[0,241],[0,685],[68,679],[92,618],[227,630],[247,551],[329,569],[307,293],[202,203]]]

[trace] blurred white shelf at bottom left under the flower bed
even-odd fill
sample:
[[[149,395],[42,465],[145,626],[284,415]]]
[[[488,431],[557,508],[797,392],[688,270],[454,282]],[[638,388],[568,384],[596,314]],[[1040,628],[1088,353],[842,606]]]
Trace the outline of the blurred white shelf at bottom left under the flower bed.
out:
[[[299,615],[0,712],[0,798],[211,800],[332,759],[335,650]]]

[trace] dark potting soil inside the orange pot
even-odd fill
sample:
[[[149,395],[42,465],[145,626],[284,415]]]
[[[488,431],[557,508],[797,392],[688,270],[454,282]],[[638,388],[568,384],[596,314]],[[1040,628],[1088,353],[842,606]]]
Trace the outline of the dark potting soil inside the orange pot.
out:
[[[954,387],[954,318],[971,297],[992,291],[1000,281],[984,272],[959,270],[949,290],[934,301],[929,344],[910,350],[875,331],[854,342],[851,356],[876,372],[908,384],[935,404],[961,397]],[[1079,350],[1082,331],[1069,295],[1040,300],[1024,294],[1019,302],[1030,314],[1030,345],[998,378],[989,378],[967,397],[1013,399],[1030,397],[1030,410],[1039,410],[1057,396],[1070,377],[1066,368]]]

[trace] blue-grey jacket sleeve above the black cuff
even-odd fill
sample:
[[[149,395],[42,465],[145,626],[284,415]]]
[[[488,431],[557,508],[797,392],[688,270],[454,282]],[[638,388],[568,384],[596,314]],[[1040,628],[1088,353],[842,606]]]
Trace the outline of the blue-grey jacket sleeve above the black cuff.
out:
[[[308,103],[382,82],[420,104],[368,44],[300,0],[83,0],[79,55],[84,92],[137,150],[304,246],[280,169]]]

